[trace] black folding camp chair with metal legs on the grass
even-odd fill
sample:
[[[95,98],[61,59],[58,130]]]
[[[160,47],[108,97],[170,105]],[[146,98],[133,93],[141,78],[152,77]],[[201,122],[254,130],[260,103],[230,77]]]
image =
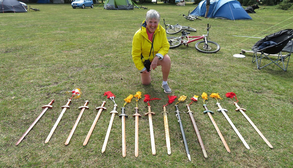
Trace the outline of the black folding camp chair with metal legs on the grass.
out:
[[[252,46],[252,51],[254,52],[252,62],[256,62],[258,69],[275,63],[282,70],[287,71],[290,55],[292,52],[292,44],[289,53],[286,52],[285,55],[282,55],[282,50],[291,39],[293,39],[293,30],[286,29],[276,32],[274,34],[270,34],[265,38],[259,40],[254,44],[254,46]],[[276,55],[277,53],[279,53],[278,56],[271,56],[272,54]],[[261,60],[264,57],[268,58],[271,62],[266,65],[260,66]],[[279,65],[280,63],[281,65]]]

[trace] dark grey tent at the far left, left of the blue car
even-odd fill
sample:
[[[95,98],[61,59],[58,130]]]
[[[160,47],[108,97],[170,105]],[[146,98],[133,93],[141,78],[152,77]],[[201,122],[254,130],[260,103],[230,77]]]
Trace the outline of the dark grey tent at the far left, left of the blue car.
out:
[[[27,12],[27,10],[17,0],[0,1],[0,13],[3,12]]]

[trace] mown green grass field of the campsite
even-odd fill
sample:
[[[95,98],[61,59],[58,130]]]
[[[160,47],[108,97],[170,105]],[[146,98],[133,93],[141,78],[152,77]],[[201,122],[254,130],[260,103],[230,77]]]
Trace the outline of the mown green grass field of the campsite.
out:
[[[214,54],[196,51],[194,45],[170,49],[172,60],[168,84],[171,95],[186,95],[179,103],[181,112],[193,95],[219,93],[223,108],[250,146],[247,150],[221,113],[216,112],[216,100],[205,103],[215,111],[213,117],[226,139],[231,153],[227,153],[212,122],[203,114],[203,101],[190,105],[200,130],[208,158],[202,155],[195,131],[188,117],[181,119],[191,154],[188,161],[181,132],[175,116],[174,104],[167,106],[172,154],[167,154],[163,105],[168,102],[161,88],[160,68],[152,71],[151,84],[142,86],[137,69],[132,62],[132,37],[140,28],[147,10],[102,10],[94,8],[72,9],[70,4],[28,4],[40,8],[39,12],[0,14],[0,167],[293,167],[292,108],[293,66],[287,72],[275,65],[258,70],[251,63],[252,54],[234,58],[241,49],[251,49],[259,39],[236,37],[264,37],[283,29],[292,28],[292,11],[260,6],[252,20],[205,19],[189,21],[182,17],[195,6],[183,7],[165,4],[143,5],[155,9],[166,23],[190,25],[206,33],[207,23],[212,25],[210,37],[221,46]],[[290,18],[288,20],[288,18]],[[235,45],[236,44],[236,45]],[[264,62],[267,60],[264,59]],[[49,143],[44,141],[71,97],[66,94],[80,88],[81,98],[73,99]],[[134,157],[134,107],[125,105],[126,149],[122,157],[121,119],[116,115],[105,153],[101,153],[108,128],[113,102],[103,96],[112,91],[121,112],[124,98],[141,91],[161,100],[151,101],[156,155],[151,153],[149,120],[139,120],[139,156]],[[270,149],[240,112],[235,112],[235,99],[225,93],[234,92],[239,106],[270,141]],[[33,129],[15,146],[15,143],[42,111],[41,107],[52,99],[53,109],[48,109]],[[78,107],[89,101],[69,145],[64,142],[80,112]],[[83,141],[96,117],[96,107],[106,101],[103,111],[84,147]],[[147,112],[143,99],[138,103],[140,114]]]

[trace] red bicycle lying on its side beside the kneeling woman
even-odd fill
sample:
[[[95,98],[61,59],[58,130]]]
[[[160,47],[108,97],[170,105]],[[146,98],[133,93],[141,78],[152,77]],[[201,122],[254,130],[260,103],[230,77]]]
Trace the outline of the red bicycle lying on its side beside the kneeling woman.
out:
[[[178,37],[167,37],[167,40],[170,44],[170,49],[177,48],[184,44],[188,46],[188,43],[193,41],[197,41],[200,39],[204,39],[204,41],[199,41],[195,44],[195,49],[202,53],[216,53],[220,50],[220,45],[214,41],[208,41],[209,39],[209,29],[211,26],[207,24],[207,34],[203,34],[202,36],[188,36],[189,32],[182,31],[181,36]]]

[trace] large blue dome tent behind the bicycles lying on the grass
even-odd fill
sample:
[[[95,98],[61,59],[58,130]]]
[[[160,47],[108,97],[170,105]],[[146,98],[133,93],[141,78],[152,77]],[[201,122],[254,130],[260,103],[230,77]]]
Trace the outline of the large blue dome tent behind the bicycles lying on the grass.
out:
[[[201,1],[190,14],[204,17],[207,11],[205,5],[206,0]],[[235,0],[211,0],[207,17],[230,20],[252,19],[241,7],[239,1]]]

